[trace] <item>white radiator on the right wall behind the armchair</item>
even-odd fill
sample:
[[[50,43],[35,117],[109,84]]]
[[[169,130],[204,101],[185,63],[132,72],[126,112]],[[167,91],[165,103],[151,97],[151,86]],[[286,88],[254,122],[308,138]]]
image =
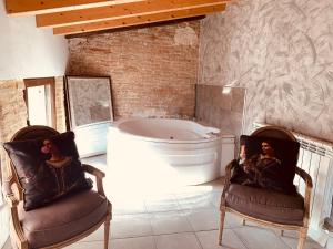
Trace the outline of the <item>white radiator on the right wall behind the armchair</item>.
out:
[[[254,124],[254,129],[268,124]],[[301,144],[297,166],[310,174],[313,181],[309,236],[325,246],[329,235],[322,229],[330,217],[333,197],[333,143],[292,132]],[[305,185],[299,176],[294,184],[304,196]]]

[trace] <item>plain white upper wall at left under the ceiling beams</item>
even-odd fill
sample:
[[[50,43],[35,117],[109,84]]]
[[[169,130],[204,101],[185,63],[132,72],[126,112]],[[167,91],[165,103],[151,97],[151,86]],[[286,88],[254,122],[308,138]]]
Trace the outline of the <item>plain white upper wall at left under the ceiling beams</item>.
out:
[[[0,80],[64,75],[68,44],[34,17],[8,17],[0,1]]]

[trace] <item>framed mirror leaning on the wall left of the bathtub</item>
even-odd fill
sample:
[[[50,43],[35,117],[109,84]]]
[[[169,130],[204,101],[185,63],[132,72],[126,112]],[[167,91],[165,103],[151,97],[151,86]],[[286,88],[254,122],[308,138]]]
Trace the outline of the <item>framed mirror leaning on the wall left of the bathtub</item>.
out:
[[[75,133],[80,157],[107,153],[107,133],[113,122],[109,76],[65,76],[68,129]]]

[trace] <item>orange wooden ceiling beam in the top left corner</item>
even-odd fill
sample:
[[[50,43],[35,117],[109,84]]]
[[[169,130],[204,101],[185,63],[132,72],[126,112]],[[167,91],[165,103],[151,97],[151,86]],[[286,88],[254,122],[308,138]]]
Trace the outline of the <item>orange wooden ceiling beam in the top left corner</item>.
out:
[[[143,0],[4,0],[10,15],[33,15],[87,8],[115,6]]]

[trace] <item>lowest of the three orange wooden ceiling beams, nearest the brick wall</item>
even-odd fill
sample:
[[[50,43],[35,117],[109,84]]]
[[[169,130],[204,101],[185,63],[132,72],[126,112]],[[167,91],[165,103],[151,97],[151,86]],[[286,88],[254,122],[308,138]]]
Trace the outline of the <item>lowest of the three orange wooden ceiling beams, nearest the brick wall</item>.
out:
[[[115,29],[115,28],[123,28],[123,27],[131,27],[131,25],[147,24],[147,23],[153,23],[153,22],[198,17],[198,15],[203,15],[203,14],[221,12],[224,10],[225,10],[225,4],[220,3],[220,4],[216,4],[213,7],[199,7],[199,8],[192,8],[189,10],[168,11],[168,12],[158,13],[158,14],[147,14],[143,17],[139,15],[139,17],[134,17],[134,18],[133,17],[123,18],[120,20],[92,22],[92,23],[70,25],[70,27],[60,27],[60,28],[54,28],[53,33],[54,34],[84,33],[84,32],[92,32],[92,31],[99,31],[99,30],[108,30],[108,29]]]

